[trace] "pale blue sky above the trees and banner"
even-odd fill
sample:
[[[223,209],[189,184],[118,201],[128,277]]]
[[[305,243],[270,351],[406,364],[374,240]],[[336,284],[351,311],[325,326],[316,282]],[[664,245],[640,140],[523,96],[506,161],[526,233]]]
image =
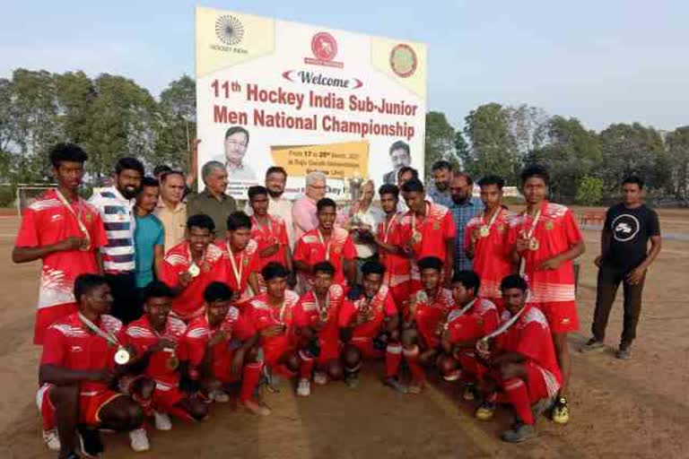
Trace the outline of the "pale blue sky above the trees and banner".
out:
[[[485,102],[528,103],[603,129],[689,125],[689,2],[237,1],[200,3],[429,44],[428,108],[461,126]],[[194,2],[6,2],[13,68],[123,74],[157,95],[194,73]]]

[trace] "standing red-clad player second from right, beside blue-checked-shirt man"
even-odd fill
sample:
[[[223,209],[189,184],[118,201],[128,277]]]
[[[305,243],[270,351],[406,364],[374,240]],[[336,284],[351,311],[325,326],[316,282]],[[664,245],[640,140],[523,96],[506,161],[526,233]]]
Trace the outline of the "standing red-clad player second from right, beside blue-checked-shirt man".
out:
[[[514,214],[502,207],[504,184],[504,179],[498,176],[486,176],[478,181],[484,211],[468,221],[464,232],[465,253],[481,279],[477,295],[490,299],[498,307],[502,304],[500,282],[515,272],[508,243],[510,220]]]

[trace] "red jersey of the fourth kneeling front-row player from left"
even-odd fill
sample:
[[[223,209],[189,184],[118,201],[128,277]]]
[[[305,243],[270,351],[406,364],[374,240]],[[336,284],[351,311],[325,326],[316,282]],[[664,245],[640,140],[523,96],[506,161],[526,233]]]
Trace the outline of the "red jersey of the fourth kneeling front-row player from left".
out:
[[[299,295],[292,290],[284,291],[284,301],[279,307],[267,303],[267,293],[260,293],[249,300],[246,314],[251,328],[260,332],[270,325],[285,325],[283,334],[261,337],[261,345],[266,354],[275,354],[275,350],[287,350],[295,342],[294,310],[299,302]]]

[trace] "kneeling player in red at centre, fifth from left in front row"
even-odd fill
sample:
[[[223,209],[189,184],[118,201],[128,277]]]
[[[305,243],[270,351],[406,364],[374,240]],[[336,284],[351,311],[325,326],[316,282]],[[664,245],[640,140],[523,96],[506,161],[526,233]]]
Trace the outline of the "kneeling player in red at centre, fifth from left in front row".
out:
[[[338,318],[345,299],[342,286],[333,283],[335,267],[329,262],[313,266],[313,290],[299,299],[294,310],[294,326],[299,335],[300,348],[306,355],[316,357],[314,383],[326,385],[328,379],[341,379]],[[301,378],[303,394],[310,394],[310,380]],[[309,387],[309,390],[306,388]]]

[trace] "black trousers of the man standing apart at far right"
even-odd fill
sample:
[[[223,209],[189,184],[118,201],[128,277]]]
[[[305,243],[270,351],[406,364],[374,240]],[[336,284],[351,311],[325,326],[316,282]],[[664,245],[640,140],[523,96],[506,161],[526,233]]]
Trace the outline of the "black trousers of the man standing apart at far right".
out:
[[[598,286],[596,292],[596,311],[593,313],[591,332],[597,341],[606,338],[607,318],[615,302],[617,288],[622,282],[624,292],[624,323],[620,345],[627,347],[636,338],[636,325],[641,315],[641,292],[646,275],[637,284],[631,284],[624,276],[629,273],[611,266],[601,266],[598,269]]]

